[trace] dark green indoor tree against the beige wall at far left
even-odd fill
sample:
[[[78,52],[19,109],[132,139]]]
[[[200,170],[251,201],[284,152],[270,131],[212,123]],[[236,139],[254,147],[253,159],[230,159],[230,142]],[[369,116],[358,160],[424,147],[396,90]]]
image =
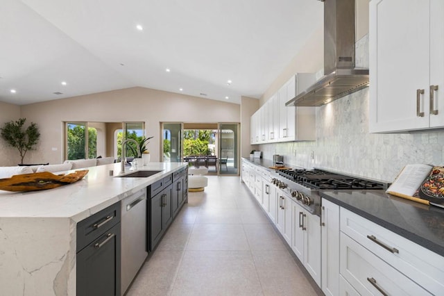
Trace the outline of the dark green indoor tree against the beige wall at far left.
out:
[[[17,148],[20,154],[20,164],[23,165],[23,159],[28,150],[34,150],[40,139],[40,132],[37,124],[31,124],[24,130],[23,126],[26,118],[20,118],[16,122],[6,122],[0,129],[0,135],[9,146]]]

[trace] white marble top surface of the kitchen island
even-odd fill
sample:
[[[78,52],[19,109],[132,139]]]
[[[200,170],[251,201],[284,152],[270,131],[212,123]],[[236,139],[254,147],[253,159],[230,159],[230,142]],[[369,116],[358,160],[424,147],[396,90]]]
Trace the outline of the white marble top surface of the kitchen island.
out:
[[[148,163],[142,170],[163,172],[146,178],[119,178],[120,163],[113,163],[88,167],[82,180],[59,188],[33,192],[0,190],[0,217],[67,217],[79,222],[186,165]],[[126,172],[132,171],[126,167]]]

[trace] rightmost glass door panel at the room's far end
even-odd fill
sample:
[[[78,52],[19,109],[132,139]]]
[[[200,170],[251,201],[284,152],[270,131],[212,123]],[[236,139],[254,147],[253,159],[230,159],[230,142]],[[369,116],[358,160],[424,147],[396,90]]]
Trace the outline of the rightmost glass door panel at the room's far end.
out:
[[[219,174],[239,175],[239,124],[219,124]]]

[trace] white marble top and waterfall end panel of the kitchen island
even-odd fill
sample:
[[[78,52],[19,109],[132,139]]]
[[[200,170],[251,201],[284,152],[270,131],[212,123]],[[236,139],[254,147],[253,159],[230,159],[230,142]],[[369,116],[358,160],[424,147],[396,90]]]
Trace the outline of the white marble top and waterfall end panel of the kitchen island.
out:
[[[82,180],[51,190],[0,191],[1,294],[76,295],[77,223],[183,167],[149,163],[143,170],[162,172],[119,178],[114,163],[89,167]]]

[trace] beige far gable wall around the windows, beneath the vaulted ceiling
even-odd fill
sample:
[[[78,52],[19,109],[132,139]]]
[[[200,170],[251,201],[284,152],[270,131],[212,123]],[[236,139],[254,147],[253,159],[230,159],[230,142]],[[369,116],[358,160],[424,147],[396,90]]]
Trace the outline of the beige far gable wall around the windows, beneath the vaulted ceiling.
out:
[[[148,88],[128,88],[46,101],[22,106],[20,110],[20,115],[36,122],[42,132],[40,149],[26,157],[26,162],[31,163],[63,161],[62,122],[66,121],[146,122],[146,135],[155,137],[149,144],[152,161],[160,161],[162,135],[159,122],[241,121],[239,104]]]

